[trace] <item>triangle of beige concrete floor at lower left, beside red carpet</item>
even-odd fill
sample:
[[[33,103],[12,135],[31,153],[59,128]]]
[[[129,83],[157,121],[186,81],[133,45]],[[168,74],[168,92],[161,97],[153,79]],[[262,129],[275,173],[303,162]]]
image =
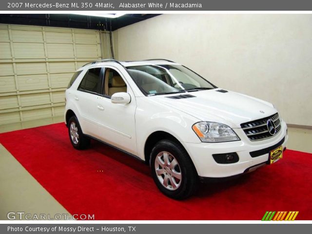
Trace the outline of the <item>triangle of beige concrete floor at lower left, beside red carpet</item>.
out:
[[[1,144],[0,197],[0,220],[8,219],[9,212],[71,216]]]

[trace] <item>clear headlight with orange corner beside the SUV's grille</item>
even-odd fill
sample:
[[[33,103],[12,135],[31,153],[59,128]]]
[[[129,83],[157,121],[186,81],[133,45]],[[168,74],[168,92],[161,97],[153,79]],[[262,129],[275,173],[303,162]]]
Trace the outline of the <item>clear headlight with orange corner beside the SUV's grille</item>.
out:
[[[193,130],[202,142],[225,142],[240,140],[232,128],[222,123],[198,122]]]

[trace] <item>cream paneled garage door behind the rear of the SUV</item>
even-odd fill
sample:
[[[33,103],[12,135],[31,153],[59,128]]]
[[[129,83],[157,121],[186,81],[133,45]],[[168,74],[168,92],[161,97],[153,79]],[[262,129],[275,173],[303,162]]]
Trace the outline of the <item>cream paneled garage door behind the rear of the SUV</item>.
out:
[[[63,115],[69,79],[101,50],[97,30],[0,24],[0,125]]]

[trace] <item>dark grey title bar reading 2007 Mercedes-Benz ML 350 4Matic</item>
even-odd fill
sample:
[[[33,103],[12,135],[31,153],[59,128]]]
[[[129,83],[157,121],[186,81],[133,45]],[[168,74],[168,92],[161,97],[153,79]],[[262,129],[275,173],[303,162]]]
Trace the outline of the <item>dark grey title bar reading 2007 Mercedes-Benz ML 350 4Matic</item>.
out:
[[[311,11],[309,0],[1,0],[1,11]]]

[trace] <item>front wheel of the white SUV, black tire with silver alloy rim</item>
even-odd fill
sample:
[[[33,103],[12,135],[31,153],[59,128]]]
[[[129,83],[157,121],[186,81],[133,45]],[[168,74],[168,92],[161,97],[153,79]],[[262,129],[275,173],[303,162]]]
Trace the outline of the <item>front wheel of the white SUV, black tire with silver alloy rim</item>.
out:
[[[170,198],[185,199],[198,188],[195,166],[185,149],[175,141],[164,139],[156,143],[151,153],[151,169],[158,189]]]

